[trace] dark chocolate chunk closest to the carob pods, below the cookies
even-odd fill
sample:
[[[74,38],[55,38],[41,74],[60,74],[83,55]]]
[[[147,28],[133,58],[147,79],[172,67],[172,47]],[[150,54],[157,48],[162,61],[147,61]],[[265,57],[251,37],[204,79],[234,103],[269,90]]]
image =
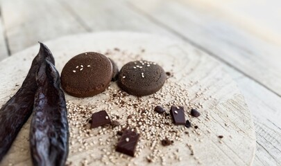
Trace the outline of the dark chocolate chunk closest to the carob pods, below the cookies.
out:
[[[92,115],[92,125],[91,129],[94,127],[99,127],[104,124],[109,124],[110,123],[110,118],[108,116],[108,113],[106,111],[99,111],[96,113],[93,113]]]

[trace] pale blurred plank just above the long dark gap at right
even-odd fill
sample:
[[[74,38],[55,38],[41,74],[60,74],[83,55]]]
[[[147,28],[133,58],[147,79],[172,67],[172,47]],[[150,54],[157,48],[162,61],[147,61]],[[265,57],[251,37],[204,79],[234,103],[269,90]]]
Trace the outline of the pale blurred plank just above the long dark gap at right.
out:
[[[212,13],[176,1],[128,1],[137,12],[186,37],[281,95],[281,48]],[[270,56],[270,57],[269,57]]]

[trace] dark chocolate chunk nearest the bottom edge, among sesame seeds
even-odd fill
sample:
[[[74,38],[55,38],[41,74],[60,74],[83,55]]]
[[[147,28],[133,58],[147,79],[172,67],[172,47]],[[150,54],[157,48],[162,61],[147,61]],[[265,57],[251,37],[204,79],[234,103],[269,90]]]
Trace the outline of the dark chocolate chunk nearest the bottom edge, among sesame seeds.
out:
[[[138,140],[139,134],[132,131],[132,129],[128,129],[123,132],[117,144],[116,151],[133,157],[135,154],[135,147],[137,146]]]

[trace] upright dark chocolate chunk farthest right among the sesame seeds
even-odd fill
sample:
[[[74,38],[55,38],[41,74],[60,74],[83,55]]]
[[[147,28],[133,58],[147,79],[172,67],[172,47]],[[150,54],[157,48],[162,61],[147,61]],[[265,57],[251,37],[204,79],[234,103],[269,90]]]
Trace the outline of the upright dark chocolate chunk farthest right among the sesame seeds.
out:
[[[183,107],[172,106],[170,113],[174,124],[185,125],[185,109]]]

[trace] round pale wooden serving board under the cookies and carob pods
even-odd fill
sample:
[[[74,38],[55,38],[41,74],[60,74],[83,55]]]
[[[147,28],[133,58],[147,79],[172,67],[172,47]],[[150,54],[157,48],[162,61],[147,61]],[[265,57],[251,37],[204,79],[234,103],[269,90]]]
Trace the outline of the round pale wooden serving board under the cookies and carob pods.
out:
[[[163,66],[165,71],[171,73],[163,89],[173,86],[173,93],[188,91],[188,93],[182,94],[187,94],[189,100],[182,101],[181,104],[186,109],[187,119],[193,124],[192,127],[187,129],[175,126],[174,129],[182,130],[181,139],[175,140],[169,147],[158,146],[163,153],[169,155],[171,152],[171,155],[176,154],[178,158],[167,157],[164,163],[156,159],[155,163],[151,165],[252,165],[255,156],[255,131],[244,97],[219,62],[201,50],[165,37],[127,32],[67,36],[44,44],[53,53],[59,72],[74,55],[95,51],[114,59],[119,68],[132,60],[146,59],[157,62]],[[39,44],[0,62],[0,105],[4,104],[19,89],[38,50]],[[132,111],[130,109],[124,112],[124,108],[114,107],[110,110],[106,107],[104,100],[110,102],[112,97],[110,93],[114,89],[119,90],[115,82],[111,82],[110,87],[111,91],[107,89],[92,98],[74,98],[66,94],[66,99],[68,102],[82,106],[94,105],[94,109],[90,109],[87,116],[101,109],[107,110],[110,115],[133,113],[130,112]],[[142,97],[141,100],[152,101],[154,99],[151,96]],[[187,96],[182,96],[182,98]],[[130,95],[127,98],[139,100]],[[163,96],[163,99],[158,102],[166,103],[165,109],[169,109],[169,104],[165,101],[168,98]],[[193,107],[201,111],[200,117],[188,116],[188,111]],[[77,131],[71,125],[74,122],[69,121],[71,132]],[[29,123],[30,120],[26,122],[0,165],[31,165],[28,142]],[[194,124],[198,125],[198,129],[194,129]],[[93,135],[92,138],[87,138],[85,141],[94,142],[95,139],[103,139],[110,134],[96,136],[97,130],[99,129],[92,129],[90,131]],[[219,138],[219,136],[223,136],[223,138]],[[83,138],[82,134],[81,137]],[[104,156],[101,145],[78,151],[83,145],[75,142],[73,136],[70,137],[70,142],[72,143],[67,161],[69,165],[82,165],[83,162],[88,165],[144,165],[144,162],[147,162],[146,155],[151,153],[143,150],[135,158],[120,155],[115,158],[116,163],[110,162],[110,160],[106,163],[104,158],[108,158],[108,156]],[[142,143],[139,142],[140,145]],[[103,145],[102,148],[108,148],[109,156],[115,155],[117,152],[112,150],[112,147],[117,144],[117,139],[108,144],[108,146]],[[191,155],[191,151],[193,151],[193,155]]]

